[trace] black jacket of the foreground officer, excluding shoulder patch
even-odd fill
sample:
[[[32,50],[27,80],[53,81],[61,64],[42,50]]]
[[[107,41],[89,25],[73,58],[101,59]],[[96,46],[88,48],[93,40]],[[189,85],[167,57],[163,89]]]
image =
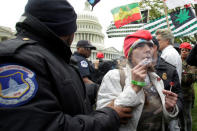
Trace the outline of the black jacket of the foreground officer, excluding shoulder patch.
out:
[[[0,131],[117,131],[113,109],[91,112],[82,79],[69,65],[70,47],[32,16],[17,30],[16,39],[0,44],[0,64],[35,72],[38,90],[26,104],[0,107]]]

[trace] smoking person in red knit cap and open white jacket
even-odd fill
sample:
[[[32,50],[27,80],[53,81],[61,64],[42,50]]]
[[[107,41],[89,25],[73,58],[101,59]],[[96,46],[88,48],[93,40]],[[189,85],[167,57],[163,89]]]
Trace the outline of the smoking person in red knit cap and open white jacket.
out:
[[[120,131],[163,131],[164,122],[176,117],[177,95],[164,90],[163,81],[152,66],[153,43],[147,30],[139,30],[124,40],[127,66],[109,71],[100,86],[97,109],[111,103],[115,106],[131,107],[132,118]],[[124,85],[120,84],[125,77]],[[122,85],[122,86],[121,86]]]

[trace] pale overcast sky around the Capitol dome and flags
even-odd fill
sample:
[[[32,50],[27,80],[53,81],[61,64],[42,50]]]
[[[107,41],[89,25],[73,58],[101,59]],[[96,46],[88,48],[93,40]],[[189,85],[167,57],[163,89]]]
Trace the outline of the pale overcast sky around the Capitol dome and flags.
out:
[[[84,9],[86,0],[68,0],[77,12]],[[111,9],[129,4],[136,0],[101,0],[93,10],[93,13],[98,17],[100,24],[103,26],[102,32],[105,35],[105,47],[115,47],[122,50],[124,38],[107,38],[106,29],[113,16],[110,12]],[[15,29],[15,23],[19,20],[21,14],[24,12],[27,0],[0,0],[0,26],[7,26]]]

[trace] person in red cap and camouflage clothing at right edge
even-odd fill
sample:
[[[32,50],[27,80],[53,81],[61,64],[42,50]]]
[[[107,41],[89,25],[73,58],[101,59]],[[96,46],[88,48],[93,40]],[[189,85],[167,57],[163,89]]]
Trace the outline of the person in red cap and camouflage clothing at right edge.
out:
[[[183,90],[183,120],[185,125],[185,131],[191,131],[191,108],[195,98],[193,83],[197,80],[195,75],[197,74],[197,69],[194,66],[188,65],[186,62],[186,58],[192,49],[191,45],[187,42],[184,42],[180,45],[179,48],[181,49],[181,59],[183,67],[181,79],[181,88]]]

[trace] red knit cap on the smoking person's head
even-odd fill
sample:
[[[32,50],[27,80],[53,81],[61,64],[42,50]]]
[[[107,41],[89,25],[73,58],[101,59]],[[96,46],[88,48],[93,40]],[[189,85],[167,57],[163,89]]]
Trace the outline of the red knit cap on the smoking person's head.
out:
[[[148,30],[138,30],[135,33],[128,35],[124,40],[124,54],[127,57],[130,47],[139,39],[152,40],[152,35]],[[139,44],[139,43],[138,43]]]

